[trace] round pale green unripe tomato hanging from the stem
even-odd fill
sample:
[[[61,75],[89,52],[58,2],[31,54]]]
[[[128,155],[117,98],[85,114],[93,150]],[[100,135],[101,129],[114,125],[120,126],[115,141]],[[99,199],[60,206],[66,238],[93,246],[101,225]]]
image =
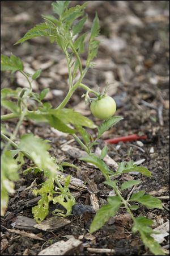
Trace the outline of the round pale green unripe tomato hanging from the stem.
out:
[[[112,117],[116,112],[116,102],[112,97],[105,96],[101,100],[92,101],[90,105],[91,113],[99,119]]]

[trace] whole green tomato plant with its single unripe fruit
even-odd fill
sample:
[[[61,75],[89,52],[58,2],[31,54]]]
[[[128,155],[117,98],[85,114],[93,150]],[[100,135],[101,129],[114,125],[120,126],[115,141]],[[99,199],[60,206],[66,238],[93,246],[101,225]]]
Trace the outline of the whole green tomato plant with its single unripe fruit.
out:
[[[141,234],[143,243],[152,253],[164,255],[159,244],[151,236],[153,232],[149,226],[153,222],[143,216],[135,218],[133,210],[136,210],[138,206],[131,205],[135,202],[145,205],[148,209],[163,209],[161,201],[150,195],[145,195],[145,191],[139,191],[131,195],[130,199],[124,199],[121,191],[142,181],[125,181],[119,185],[117,185],[117,180],[113,181],[114,177],[118,178],[131,171],[138,171],[148,177],[151,176],[151,172],[146,167],[136,166],[132,161],[129,163],[122,162],[118,164],[117,170],[111,170],[104,162],[108,151],[106,146],[101,151],[100,156],[94,154],[94,145],[98,143],[101,135],[113,125],[116,125],[122,117],[112,116],[116,112],[116,103],[113,98],[109,96],[101,97],[100,93],[82,83],[88,69],[93,67],[92,61],[97,55],[100,42],[96,40],[96,37],[99,35],[100,24],[96,14],[88,37],[88,47],[86,47],[88,48],[86,66],[83,67],[81,56],[84,53],[87,33],[82,34],[82,30],[87,19],[84,10],[88,2],[71,8],[69,8],[69,3],[70,1],[53,2],[52,7],[56,16],[42,16],[44,22],[37,24],[15,43],[23,43],[37,36],[46,36],[50,43],[56,43],[65,54],[69,73],[69,89],[66,97],[56,108],[52,108],[50,102],[43,102],[48,89],[42,90],[41,93],[33,91],[32,80],[38,79],[41,75],[40,69],[34,74],[25,72],[23,62],[19,57],[1,55],[1,71],[22,73],[27,79],[29,87],[24,89],[17,88],[16,90],[10,88],[1,90],[1,105],[7,111],[7,114],[1,115],[1,121],[3,122],[1,126],[1,138],[3,140],[1,145],[3,150],[1,156],[1,215],[4,216],[6,213],[8,193],[14,193],[14,181],[19,179],[18,171],[24,167],[25,158],[32,162],[26,170],[23,170],[24,174],[28,172],[34,172],[35,175],[37,172],[44,174],[44,183],[40,184],[39,189],[33,191],[34,195],[41,196],[38,205],[32,208],[33,216],[37,222],[44,220],[48,216],[49,203],[51,201],[53,204],[58,203],[65,208],[66,211],[58,210],[57,212],[62,216],[71,214],[71,208],[75,204],[74,196],[69,190],[70,176],[65,178],[58,174],[58,171],[64,171],[63,166],[77,167],[69,163],[58,163],[56,158],[52,158],[49,154],[49,141],[37,138],[33,134],[24,134],[20,138],[17,137],[23,120],[32,119],[36,123],[44,122],[45,125],[49,125],[63,133],[72,134],[75,141],[87,152],[87,156],[80,158],[80,160],[92,163],[99,168],[105,177],[105,184],[114,189],[116,195],[109,196],[108,204],[101,207],[96,213],[90,232],[100,229],[108,221],[109,217],[116,214],[118,209],[123,206],[134,222],[133,232],[138,231]],[[86,91],[87,101],[90,99],[88,96],[90,93],[97,97],[97,100],[91,103],[91,112],[95,117],[105,119],[99,126],[82,114],[65,108],[77,88],[82,88]],[[13,118],[18,118],[18,123],[13,133],[10,133],[6,121]],[[97,129],[95,138],[88,133],[87,127],[88,129]]]

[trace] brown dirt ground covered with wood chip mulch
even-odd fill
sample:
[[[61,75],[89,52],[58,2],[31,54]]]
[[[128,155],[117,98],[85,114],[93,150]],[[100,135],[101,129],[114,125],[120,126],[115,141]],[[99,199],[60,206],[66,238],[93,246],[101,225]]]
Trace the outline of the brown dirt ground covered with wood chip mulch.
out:
[[[72,5],[83,1],[72,1]],[[64,56],[54,44],[46,38],[37,38],[22,45],[13,46],[29,28],[42,21],[42,14],[52,14],[52,1],[2,1],[1,2],[1,52],[5,55],[19,56],[28,69],[42,68],[41,77],[35,82],[35,92],[50,88],[46,101],[55,107],[67,93],[67,69]],[[143,182],[137,189],[145,190],[163,201],[164,210],[148,210],[140,207],[135,216],[143,214],[155,221],[155,227],[167,222],[169,191],[169,1],[90,1],[87,7],[89,20],[86,29],[90,30],[95,11],[99,14],[101,46],[95,59],[95,68],[90,69],[83,83],[93,89],[104,89],[108,82],[109,95],[117,102],[117,115],[124,120],[103,135],[104,139],[130,134],[147,135],[145,141],[108,144],[108,155],[114,161],[122,162],[133,159],[141,162],[151,172],[152,177],[140,177]],[[85,59],[86,54],[83,58]],[[24,86],[16,73],[1,76],[1,88]],[[83,90],[76,90],[68,107],[96,121],[81,98]],[[2,114],[6,110],[2,109]],[[17,120],[7,122],[9,129],[14,129]],[[60,134],[48,126],[24,121],[19,135],[32,132],[51,141],[50,153],[58,162],[70,162],[80,167],[80,171],[67,168],[66,173],[83,180],[88,188],[94,189],[99,205],[106,203],[109,189],[102,181],[103,176],[97,168],[76,159],[79,145],[71,135]],[[91,131],[94,133],[94,131]],[[74,150],[69,151],[72,146]],[[24,166],[27,167],[27,164]],[[122,180],[135,179],[139,175],[127,174]],[[150,255],[143,246],[138,234],[131,232],[131,221],[125,209],[112,217],[99,231],[90,235],[89,228],[94,218],[92,210],[82,213],[75,209],[68,217],[70,224],[53,232],[39,232],[39,238],[26,237],[10,232],[18,216],[33,218],[31,205],[33,199],[29,190],[24,190],[36,179],[35,187],[42,182],[41,175],[20,176],[16,183],[16,194],[10,196],[10,202],[1,218],[2,255],[37,255],[42,249],[57,241],[67,241],[71,236],[82,241],[74,255],[98,255],[88,248],[114,249],[115,255]],[[85,206],[90,203],[90,189],[76,193],[76,203]],[[124,193],[128,196],[130,190]],[[35,203],[36,204],[36,203]],[[33,205],[33,204],[32,204]],[[91,208],[89,208],[91,209]],[[50,216],[50,215],[49,215]],[[14,226],[14,225],[13,225]],[[25,229],[24,229],[25,230]],[[33,230],[31,229],[31,232]],[[164,238],[162,246],[169,247],[169,237]]]

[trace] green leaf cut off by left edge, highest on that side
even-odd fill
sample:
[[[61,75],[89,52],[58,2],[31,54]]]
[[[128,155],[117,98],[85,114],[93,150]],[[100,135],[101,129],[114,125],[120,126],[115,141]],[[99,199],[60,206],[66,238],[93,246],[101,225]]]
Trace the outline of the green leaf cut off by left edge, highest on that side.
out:
[[[1,71],[23,71],[23,62],[19,57],[11,55],[7,57],[6,55],[1,54]]]

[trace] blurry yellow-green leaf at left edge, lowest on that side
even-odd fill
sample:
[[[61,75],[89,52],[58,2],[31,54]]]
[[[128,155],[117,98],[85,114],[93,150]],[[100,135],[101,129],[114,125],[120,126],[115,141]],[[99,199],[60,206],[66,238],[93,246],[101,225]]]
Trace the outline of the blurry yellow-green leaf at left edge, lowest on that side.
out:
[[[1,156],[1,216],[4,216],[8,203],[8,193],[14,193],[14,182],[18,180],[20,166],[12,158],[12,152],[6,151]]]

